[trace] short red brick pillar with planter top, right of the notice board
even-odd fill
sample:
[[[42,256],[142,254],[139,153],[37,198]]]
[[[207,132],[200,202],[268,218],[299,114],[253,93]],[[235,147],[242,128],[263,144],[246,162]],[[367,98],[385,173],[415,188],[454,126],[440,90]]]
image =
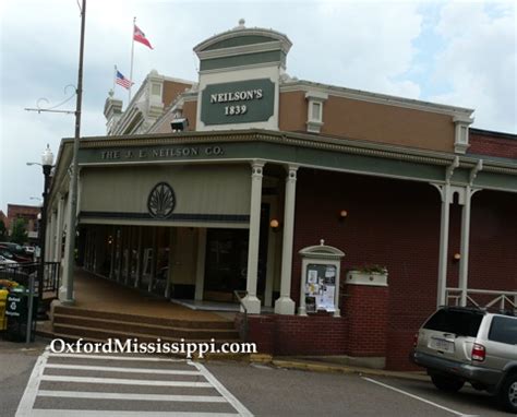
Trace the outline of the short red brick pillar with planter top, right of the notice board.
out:
[[[386,357],[388,296],[386,285],[345,287],[341,314],[348,321],[348,355],[352,357]]]

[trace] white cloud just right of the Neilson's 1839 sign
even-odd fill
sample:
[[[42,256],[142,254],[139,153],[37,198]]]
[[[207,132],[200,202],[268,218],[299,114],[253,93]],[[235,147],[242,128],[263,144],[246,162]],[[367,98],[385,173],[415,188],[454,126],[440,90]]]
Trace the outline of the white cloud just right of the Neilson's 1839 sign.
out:
[[[317,23],[297,34],[303,56],[290,57],[294,75],[419,97],[419,85],[404,76],[416,63],[413,43],[422,31],[418,3],[322,2],[313,14]]]

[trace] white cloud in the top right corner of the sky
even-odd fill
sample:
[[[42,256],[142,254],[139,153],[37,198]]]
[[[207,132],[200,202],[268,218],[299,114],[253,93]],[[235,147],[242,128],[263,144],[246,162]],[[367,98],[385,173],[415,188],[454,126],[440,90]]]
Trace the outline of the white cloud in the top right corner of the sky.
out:
[[[435,78],[448,91],[433,102],[476,109],[474,126],[517,131],[516,7],[500,3],[448,3],[435,32],[443,49],[435,59]]]

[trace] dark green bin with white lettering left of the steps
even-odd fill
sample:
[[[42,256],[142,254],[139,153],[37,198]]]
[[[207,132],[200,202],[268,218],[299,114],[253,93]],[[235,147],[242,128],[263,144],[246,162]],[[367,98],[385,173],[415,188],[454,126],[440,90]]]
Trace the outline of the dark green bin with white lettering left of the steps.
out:
[[[31,320],[31,342],[34,342],[38,298],[33,296],[33,318]],[[10,291],[5,300],[5,318],[8,325],[5,338],[11,342],[25,342],[27,338],[28,291]]]

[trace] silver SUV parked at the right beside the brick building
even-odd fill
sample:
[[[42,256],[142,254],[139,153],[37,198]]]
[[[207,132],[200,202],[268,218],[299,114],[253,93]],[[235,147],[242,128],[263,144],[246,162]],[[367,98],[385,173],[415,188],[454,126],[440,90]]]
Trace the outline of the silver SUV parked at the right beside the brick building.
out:
[[[438,390],[457,392],[469,382],[517,413],[517,317],[509,314],[441,308],[414,335],[410,358]]]

